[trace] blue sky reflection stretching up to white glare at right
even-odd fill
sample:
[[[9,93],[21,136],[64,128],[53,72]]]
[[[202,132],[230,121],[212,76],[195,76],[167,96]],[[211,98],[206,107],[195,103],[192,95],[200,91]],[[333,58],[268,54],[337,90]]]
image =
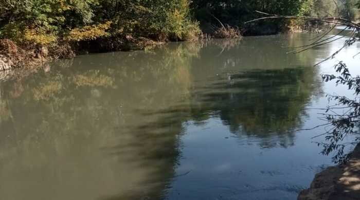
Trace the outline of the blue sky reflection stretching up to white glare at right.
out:
[[[313,50],[315,62],[330,56],[341,47],[345,39]],[[356,68],[360,56],[356,44],[341,51],[335,59],[321,64],[320,73],[333,74],[333,65],[346,61],[351,72],[360,74]],[[315,63],[314,63],[315,64]],[[320,79],[320,77],[318,77]],[[329,82],[322,85],[323,95],[313,97],[308,108],[328,105],[325,94],[351,95],[345,86]],[[303,128],[312,128],[323,123],[318,119],[318,110],[308,110]],[[311,139],[324,132],[323,128],[299,131],[295,145],[281,148],[259,148],[263,138],[233,135],[219,118],[211,118],[202,126],[191,124],[181,138],[182,158],[177,167],[170,199],[295,199],[297,193],[309,187],[316,172],[332,165],[330,157],[318,154],[320,148]],[[279,136],[273,139],[279,140]]]

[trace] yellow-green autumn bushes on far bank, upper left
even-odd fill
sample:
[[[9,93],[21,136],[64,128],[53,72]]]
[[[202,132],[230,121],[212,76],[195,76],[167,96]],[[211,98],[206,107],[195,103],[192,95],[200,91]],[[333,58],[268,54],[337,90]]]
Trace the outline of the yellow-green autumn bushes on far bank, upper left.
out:
[[[200,33],[189,0],[0,0],[0,13],[0,39],[40,45],[68,35],[73,41],[125,35],[189,40]]]

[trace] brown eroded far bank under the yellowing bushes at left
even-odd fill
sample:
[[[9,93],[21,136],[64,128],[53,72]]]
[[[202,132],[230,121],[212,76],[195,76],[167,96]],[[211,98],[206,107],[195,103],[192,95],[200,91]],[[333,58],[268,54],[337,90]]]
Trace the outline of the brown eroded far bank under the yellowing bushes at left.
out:
[[[144,50],[164,42],[146,38],[102,39],[82,43],[63,43],[56,46],[17,45],[11,40],[0,40],[0,71],[14,68],[34,68],[53,59],[74,58],[79,54]]]

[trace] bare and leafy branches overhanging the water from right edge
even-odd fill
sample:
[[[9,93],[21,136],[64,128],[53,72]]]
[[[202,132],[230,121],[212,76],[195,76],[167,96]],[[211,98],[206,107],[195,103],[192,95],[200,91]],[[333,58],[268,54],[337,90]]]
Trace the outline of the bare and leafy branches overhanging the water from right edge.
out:
[[[358,4],[358,6],[360,6],[360,4]],[[338,50],[332,53],[328,58],[323,59],[315,65],[319,65],[320,63],[333,59],[336,54],[338,54],[341,50],[357,42],[358,36],[360,35],[360,25],[343,17],[286,16],[269,14],[260,11],[256,12],[265,16],[259,19],[248,21],[246,23],[252,23],[268,19],[294,19],[332,24],[331,28],[328,31],[321,34],[319,37],[311,39],[310,41],[312,42],[310,44],[292,47],[295,48],[295,50],[292,50],[288,53],[300,53],[314,47],[332,43],[339,39],[348,38],[347,40],[345,40],[343,46],[341,46]],[[343,25],[345,26],[345,28],[338,31],[335,35],[332,35],[331,37],[326,37],[331,31],[334,30],[335,26],[338,25]],[[344,32],[346,30],[348,34],[344,35]],[[360,54],[360,52],[356,53],[354,57],[357,54]],[[329,100],[334,100],[337,102],[335,105],[319,109],[325,110],[325,113],[319,113],[319,115],[321,116],[321,119],[327,121],[327,123],[320,124],[315,126],[314,128],[304,130],[315,130],[319,127],[325,126],[325,128],[327,128],[330,126],[331,129],[326,130],[325,133],[318,134],[313,138],[325,136],[324,142],[316,142],[318,146],[322,147],[321,153],[324,155],[333,154],[332,159],[334,162],[344,163],[349,159],[351,155],[351,153],[345,153],[345,148],[360,142],[360,99],[357,98],[360,94],[360,77],[358,75],[353,76],[349,68],[343,61],[338,62],[334,66],[334,68],[336,74],[338,75],[321,75],[322,81],[335,81],[336,85],[347,86],[349,90],[354,91],[355,98],[350,99],[345,96],[327,95]],[[338,113],[337,111],[343,111],[343,113]],[[346,141],[346,138],[349,138],[349,136],[351,136],[351,142]]]

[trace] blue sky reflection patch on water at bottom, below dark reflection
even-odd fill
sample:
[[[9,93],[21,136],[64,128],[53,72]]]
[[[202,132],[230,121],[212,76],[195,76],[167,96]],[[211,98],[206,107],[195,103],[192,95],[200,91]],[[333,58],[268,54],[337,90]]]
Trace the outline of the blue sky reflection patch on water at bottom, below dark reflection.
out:
[[[262,149],[257,145],[261,138],[234,136],[220,123],[209,119],[202,128],[188,126],[177,174],[189,173],[175,178],[170,198],[294,199],[313,173],[329,163],[314,155],[316,147],[307,137],[294,147]]]

